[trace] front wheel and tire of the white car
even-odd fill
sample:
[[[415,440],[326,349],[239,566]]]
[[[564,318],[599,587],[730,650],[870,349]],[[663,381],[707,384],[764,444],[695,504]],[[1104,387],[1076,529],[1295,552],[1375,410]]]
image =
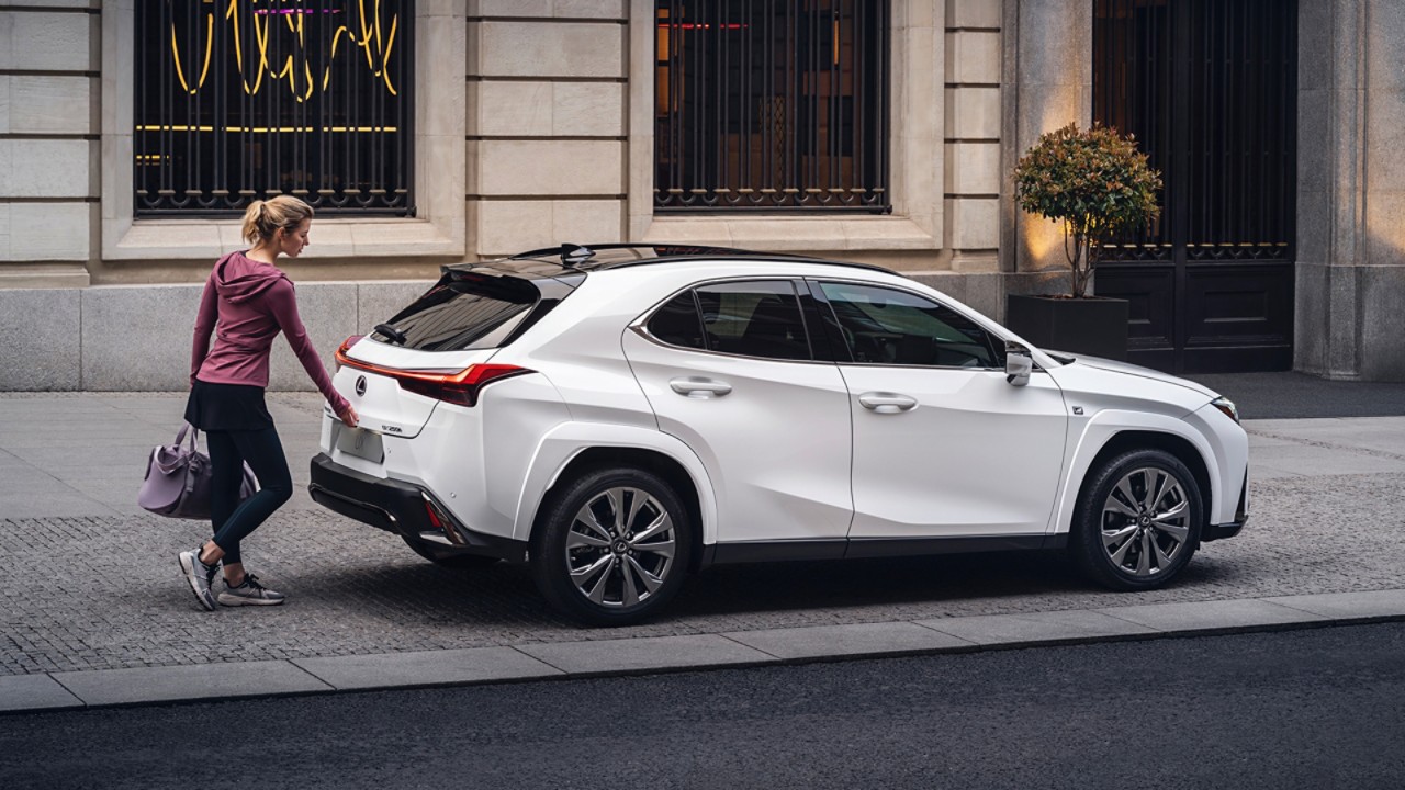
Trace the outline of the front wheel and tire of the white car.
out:
[[[1093,471],[1073,510],[1069,551],[1094,582],[1114,590],[1159,588],[1200,545],[1200,485],[1179,458],[1134,450]]]

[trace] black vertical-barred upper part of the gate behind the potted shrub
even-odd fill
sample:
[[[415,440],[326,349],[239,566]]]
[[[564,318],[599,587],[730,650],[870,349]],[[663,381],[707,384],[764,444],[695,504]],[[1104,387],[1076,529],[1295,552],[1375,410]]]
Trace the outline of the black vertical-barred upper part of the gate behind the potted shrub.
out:
[[[1161,222],[1104,260],[1293,260],[1298,17],[1283,0],[1097,0],[1093,118],[1163,174]]]

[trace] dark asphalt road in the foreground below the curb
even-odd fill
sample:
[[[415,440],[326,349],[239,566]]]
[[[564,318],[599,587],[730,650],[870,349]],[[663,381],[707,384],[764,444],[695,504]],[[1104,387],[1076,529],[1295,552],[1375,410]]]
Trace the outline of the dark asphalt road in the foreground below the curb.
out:
[[[1405,624],[0,718],[0,787],[1402,787]]]

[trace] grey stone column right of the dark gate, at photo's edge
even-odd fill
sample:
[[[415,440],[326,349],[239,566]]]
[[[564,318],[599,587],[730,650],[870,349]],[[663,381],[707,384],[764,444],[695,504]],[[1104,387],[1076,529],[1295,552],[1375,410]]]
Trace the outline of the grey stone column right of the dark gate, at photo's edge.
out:
[[[1294,367],[1304,373],[1405,381],[1401,63],[1405,6],[1298,4]]]

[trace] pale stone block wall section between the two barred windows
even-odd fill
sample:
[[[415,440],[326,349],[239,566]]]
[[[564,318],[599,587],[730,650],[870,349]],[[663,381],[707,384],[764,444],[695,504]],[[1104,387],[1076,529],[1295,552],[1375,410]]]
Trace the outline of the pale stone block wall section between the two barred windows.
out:
[[[478,0],[468,11],[476,257],[624,238],[624,0]]]

